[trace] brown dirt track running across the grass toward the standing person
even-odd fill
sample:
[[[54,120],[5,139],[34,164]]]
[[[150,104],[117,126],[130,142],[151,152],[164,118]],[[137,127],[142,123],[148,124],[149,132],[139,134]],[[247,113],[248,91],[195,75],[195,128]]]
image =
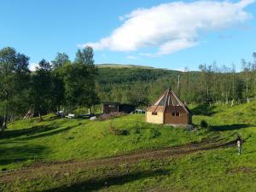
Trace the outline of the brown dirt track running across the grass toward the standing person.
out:
[[[234,146],[235,141],[228,143],[191,143],[176,148],[160,148],[144,151],[135,151],[130,154],[122,154],[110,158],[97,160],[69,160],[69,161],[51,161],[38,162],[31,166],[23,167],[18,170],[12,170],[0,173],[0,183],[15,182],[16,179],[34,179],[37,177],[50,176],[55,174],[65,174],[86,170],[98,166],[119,166],[123,164],[131,165],[140,160],[162,160],[183,154],[192,154],[199,151],[211,150],[215,148],[227,148]]]

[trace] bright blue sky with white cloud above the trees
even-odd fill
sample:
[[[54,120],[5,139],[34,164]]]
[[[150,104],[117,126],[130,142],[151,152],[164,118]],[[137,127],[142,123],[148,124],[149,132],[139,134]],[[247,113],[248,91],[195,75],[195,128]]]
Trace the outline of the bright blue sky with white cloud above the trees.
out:
[[[33,69],[57,52],[73,60],[90,45],[96,64],[198,70],[253,61],[256,0],[0,0],[0,49],[14,47]]]

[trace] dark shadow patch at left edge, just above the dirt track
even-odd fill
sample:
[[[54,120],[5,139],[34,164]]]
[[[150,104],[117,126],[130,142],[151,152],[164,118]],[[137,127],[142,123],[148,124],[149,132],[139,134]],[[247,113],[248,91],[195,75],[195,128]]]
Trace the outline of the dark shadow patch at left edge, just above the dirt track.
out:
[[[6,166],[26,160],[36,160],[47,150],[41,145],[22,145],[11,148],[0,148],[0,165]]]

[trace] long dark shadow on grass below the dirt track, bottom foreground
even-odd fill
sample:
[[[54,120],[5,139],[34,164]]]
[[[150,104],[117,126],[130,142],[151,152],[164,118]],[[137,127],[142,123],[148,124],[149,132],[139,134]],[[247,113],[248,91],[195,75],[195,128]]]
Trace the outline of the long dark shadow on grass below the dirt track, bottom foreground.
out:
[[[146,178],[146,177],[156,177],[161,175],[169,174],[167,170],[148,170],[142,172],[129,172],[121,175],[111,175],[102,178],[91,178],[87,181],[81,183],[73,183],[72,185],[63,185],[55,189],[47,189],[44,192],[54,192],[54,191],[94,191],[103,188],[108,188],[112,185],[122,185],[135,181],[137,179]]]

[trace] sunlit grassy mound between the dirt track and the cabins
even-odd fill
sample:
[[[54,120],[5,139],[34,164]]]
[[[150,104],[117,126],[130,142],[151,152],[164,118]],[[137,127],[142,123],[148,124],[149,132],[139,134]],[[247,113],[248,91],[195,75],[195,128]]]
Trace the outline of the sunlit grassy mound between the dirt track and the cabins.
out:
[[[0,169],[36,160],[95,159],[137,149],[177,146],[201,141],[207,137],[204,132],[148,124],[144,115],[138,114],[106,121],[55,119],[54,115],[44,116],[40,123],[38,119],[20,120],[9,124],[9,130],[1,135]]]

